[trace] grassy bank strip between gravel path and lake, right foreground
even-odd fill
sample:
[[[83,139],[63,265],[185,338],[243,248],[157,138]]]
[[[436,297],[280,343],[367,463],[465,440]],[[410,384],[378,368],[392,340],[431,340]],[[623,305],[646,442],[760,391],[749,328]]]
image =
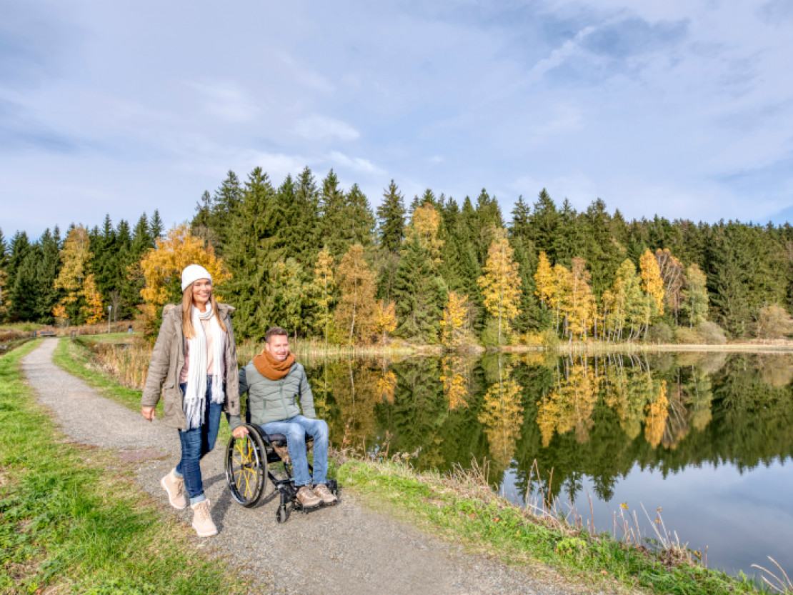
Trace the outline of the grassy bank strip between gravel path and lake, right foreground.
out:
[[[339,482],[367,501],[383,503],[424,528],[475,551],[499,555],[508,563],[543,562],[565,576],[605,585],[637,587],[649,593],[715,595],[757,593],[748,579],[703,566],[668,568],[657,556],[610,536],[561,532],[550,524],[528,519],[505,501],[485,501],[465,489],[450,488],[438,474],[417,475],[401,463],[351,462],[338,471]]]

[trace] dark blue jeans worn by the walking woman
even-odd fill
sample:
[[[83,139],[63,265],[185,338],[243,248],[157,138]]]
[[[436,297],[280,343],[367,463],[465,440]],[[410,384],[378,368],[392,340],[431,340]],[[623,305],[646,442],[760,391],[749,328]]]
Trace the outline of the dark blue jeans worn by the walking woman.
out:
[[[180,384],[182,393],[186,384]],[[200,428],[179,430],[179,441],[182,443],[182,459],[176,466],[175,475],[185,478],[185,489],[190,497],[190,504],[198,504],[206,500],[204,484],[201,482],[201,459],[215,447],[217,428],[220,427],[220,414],[223,405],[212,402],[212,376],[206,379],[206,407],[204,421]]]

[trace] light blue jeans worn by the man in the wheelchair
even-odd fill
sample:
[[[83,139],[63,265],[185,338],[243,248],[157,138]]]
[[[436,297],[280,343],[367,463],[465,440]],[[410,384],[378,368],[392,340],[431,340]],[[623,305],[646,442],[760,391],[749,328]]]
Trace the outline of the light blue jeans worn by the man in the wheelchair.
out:
[[[312,482],[308,474],[308,455],[305,451],[305,436],[314,437],[314,485],[328,483],[328,424],[323,420],[312,420],[296,415],[288,420],[268,421],[262,424],[267,434],[286,436],[286,447],[292,458],[295,486],[308,486]]]

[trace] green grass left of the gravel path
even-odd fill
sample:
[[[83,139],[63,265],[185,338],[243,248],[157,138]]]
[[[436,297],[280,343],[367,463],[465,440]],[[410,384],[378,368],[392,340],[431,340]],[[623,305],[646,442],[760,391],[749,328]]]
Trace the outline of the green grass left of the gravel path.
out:
[[[117,457],[63,442],[0,357],[0,593],[252,593],[140,494]]]

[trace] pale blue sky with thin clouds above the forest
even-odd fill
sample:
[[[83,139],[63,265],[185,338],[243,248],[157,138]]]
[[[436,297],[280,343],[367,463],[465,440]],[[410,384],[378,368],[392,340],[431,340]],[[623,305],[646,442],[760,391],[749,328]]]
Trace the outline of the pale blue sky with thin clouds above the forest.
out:
[[[0,229],[167,227],[229,170],[373,208],[546,188],[793,221],[793,0],[0,0]]]

